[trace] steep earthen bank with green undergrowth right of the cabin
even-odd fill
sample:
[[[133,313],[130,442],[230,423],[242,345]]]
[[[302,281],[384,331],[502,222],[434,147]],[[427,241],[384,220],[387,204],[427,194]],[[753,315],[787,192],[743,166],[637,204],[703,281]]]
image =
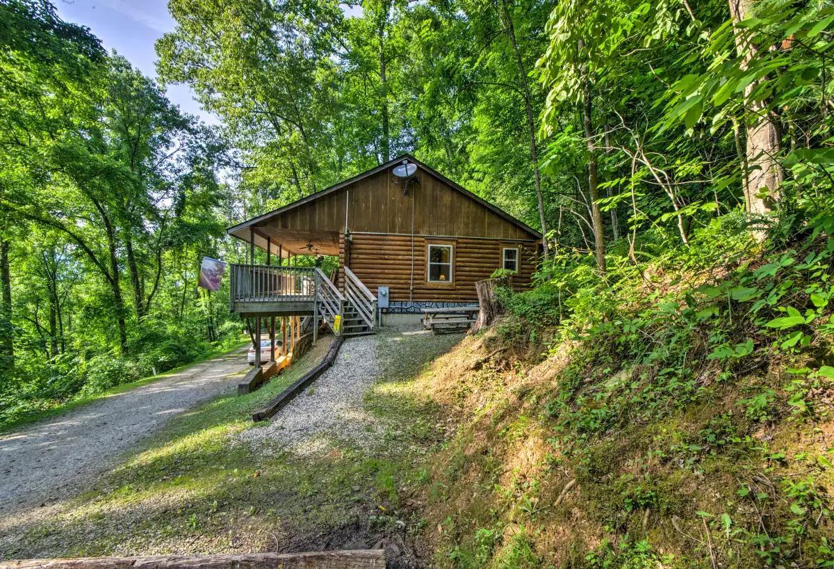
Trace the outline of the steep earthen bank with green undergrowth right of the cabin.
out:
[[[426,375],[456,425],[417,498],[436,564],[834,566],[831,244],[505,299]]]

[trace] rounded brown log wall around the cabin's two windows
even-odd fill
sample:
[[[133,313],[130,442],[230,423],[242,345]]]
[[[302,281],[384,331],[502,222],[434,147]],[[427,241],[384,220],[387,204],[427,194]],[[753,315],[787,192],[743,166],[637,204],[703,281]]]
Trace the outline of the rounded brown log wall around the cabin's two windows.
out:
[[[344,266],[344,237],[340,236],[339,265]],[[428,244],[450,244],[453,249],[451,283],[426,281]],[[414,295],[409,299],[411,277],[411,237],[409,235],[352,234],[348,266],[375,295],[377,287],[389,286],[392,302],[428,300],[435,302],[475,302],[475,281],[489,279],[501,266],[505,247],[520,250],[520,271],[513,277],[516,290],[530,284],[536,264],[538,244],[535,241],[505,239],[444,238],[417,235],[414,237]],[[341,278],[341,277],[340,277]]]

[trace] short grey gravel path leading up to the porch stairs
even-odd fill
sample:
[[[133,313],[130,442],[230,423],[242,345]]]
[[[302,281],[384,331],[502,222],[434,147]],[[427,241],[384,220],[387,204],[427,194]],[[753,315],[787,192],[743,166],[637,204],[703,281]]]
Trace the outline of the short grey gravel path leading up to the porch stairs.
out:
[[[240,441],[261,451],[289,450],[299,455],[316,454],[338,436],[367,446],[376,439],[379,425],[364,410],[364,392],[377,380],[377,346],[380,335],[344,340],[334,365],[303,394],[292,400],[263,427],[240,433]]]

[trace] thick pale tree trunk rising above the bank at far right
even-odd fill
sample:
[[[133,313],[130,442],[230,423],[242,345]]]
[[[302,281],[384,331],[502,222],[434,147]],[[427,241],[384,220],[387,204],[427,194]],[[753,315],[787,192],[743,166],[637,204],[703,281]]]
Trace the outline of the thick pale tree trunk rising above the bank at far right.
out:
[[[733,23],[740,23],[750,15],[754,0],[729,0]],[[741,58],[741,67],[747,68],[756,58],[759,48],[751,42],[750,32],[736,28],[736,51]],[[755,115],[753,123],[746,123],[746,149],[742,160],[744,202],[748,214],[764,215],[771,212],[779,199],[782,171],[778,161],[781,150],[780,132],[766,103],[751,101],[749,96],[755,89],[754,81],[744,90],[747,113]],[[761,231],[755,232],[759,239]]]

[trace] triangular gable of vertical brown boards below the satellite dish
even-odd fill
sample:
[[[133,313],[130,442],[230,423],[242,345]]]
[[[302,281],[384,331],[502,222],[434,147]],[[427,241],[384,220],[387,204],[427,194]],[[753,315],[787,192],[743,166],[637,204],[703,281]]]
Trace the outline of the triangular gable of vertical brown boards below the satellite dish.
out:
[[[347,227],[352,232],[411,234],[413,206],[415,234],[534,238],[429,172],[418,169],[416,176],[419,183],[409,184],[409,193],[404,195],[403,185],[389,169],[384,170],[266,219],[255,231],[273,237],[274,243],[288,235],[304,240],[314,233],[329,233],[334,242],[336,234],[344,231],[347,209]]]

